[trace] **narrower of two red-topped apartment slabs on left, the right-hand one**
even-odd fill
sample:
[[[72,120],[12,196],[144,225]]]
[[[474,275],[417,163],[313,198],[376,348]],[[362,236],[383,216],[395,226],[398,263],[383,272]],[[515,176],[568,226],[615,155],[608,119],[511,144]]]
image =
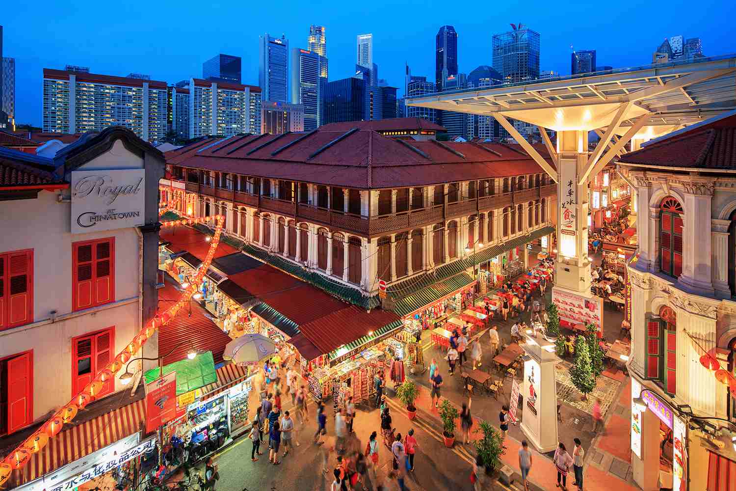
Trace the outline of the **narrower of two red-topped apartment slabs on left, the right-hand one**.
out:
[[[189,138],[261,133],[261,88],[191,79]]]

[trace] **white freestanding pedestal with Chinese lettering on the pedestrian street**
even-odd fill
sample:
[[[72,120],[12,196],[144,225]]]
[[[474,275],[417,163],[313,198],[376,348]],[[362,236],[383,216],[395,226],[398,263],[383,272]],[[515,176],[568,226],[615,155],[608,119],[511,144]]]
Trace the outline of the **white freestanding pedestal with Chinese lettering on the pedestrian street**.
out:
[[[524,361],[523,411],[521,431],[540,452],[553,451],[557,438],[557,390],[555,365],[559,361],[554,345],[544,339],[532,339],[522,345]]]

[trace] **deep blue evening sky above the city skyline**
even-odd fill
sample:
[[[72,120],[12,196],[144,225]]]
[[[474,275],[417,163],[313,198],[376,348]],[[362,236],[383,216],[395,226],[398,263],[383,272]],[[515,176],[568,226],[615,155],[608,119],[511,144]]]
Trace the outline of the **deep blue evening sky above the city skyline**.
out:
[[[40,126],[43,68],[89,66],[174,83],[202,76],[217,53],[243,58],[243,82],[258,83],[258,36],[286,34],[306,47],[310,24],[326,27],[330,80],[349,77],[355,35],[372,32],[379,76],[403,92],[404,62],[434,78],[437,29],[459,34],[459,70],[491,65],[491,38],[528,25],[541,35],[542,70],[570,73],[570,45],[597,49],[598,65],[651,62],[662,39],[700,37],[706,55],[736,52],[736,2],[590,1],[35,1],[2,9],[4,56],[15,57],[18,123]],[[623,7],[622,7],[623,5]],[[606,6],[608,7],[606,9]]]

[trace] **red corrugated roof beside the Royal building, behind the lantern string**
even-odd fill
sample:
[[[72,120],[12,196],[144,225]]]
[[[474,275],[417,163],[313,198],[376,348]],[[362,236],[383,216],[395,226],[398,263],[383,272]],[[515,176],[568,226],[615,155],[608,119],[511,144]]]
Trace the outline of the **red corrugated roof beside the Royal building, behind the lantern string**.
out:
[[[172,304],[171,300],[179,300],[181,292],[171,283],[166,283],[158,290],[158,310],[163,311]],[[158,330],[158,353],[169,356],[163,358],[164,364],[174,363],[186,358],[188,350],[211,351],[215,364],[222,363],[225,345],[230,342],[227,336],[211,319],[207,317],[197,303],[192,302],[191,316],[189,308],[181,308],[174,319]],[[183,342],[188,341],[188,342]],[[191,343],[190,343],[191,342]],[[179,343],[182,343],[177,347]]]

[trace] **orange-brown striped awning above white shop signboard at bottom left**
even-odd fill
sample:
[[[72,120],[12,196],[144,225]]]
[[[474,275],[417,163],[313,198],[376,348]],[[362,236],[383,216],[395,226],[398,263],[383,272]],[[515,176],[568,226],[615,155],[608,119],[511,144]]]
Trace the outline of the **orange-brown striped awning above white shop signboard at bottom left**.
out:
[[[63,430],[49,439],[49,444],[42,451],[33,454],[25,467],[14,470],[6,485],[12,489],[40,478],[140,431],[145,424],[146,400],[141,399]]]

